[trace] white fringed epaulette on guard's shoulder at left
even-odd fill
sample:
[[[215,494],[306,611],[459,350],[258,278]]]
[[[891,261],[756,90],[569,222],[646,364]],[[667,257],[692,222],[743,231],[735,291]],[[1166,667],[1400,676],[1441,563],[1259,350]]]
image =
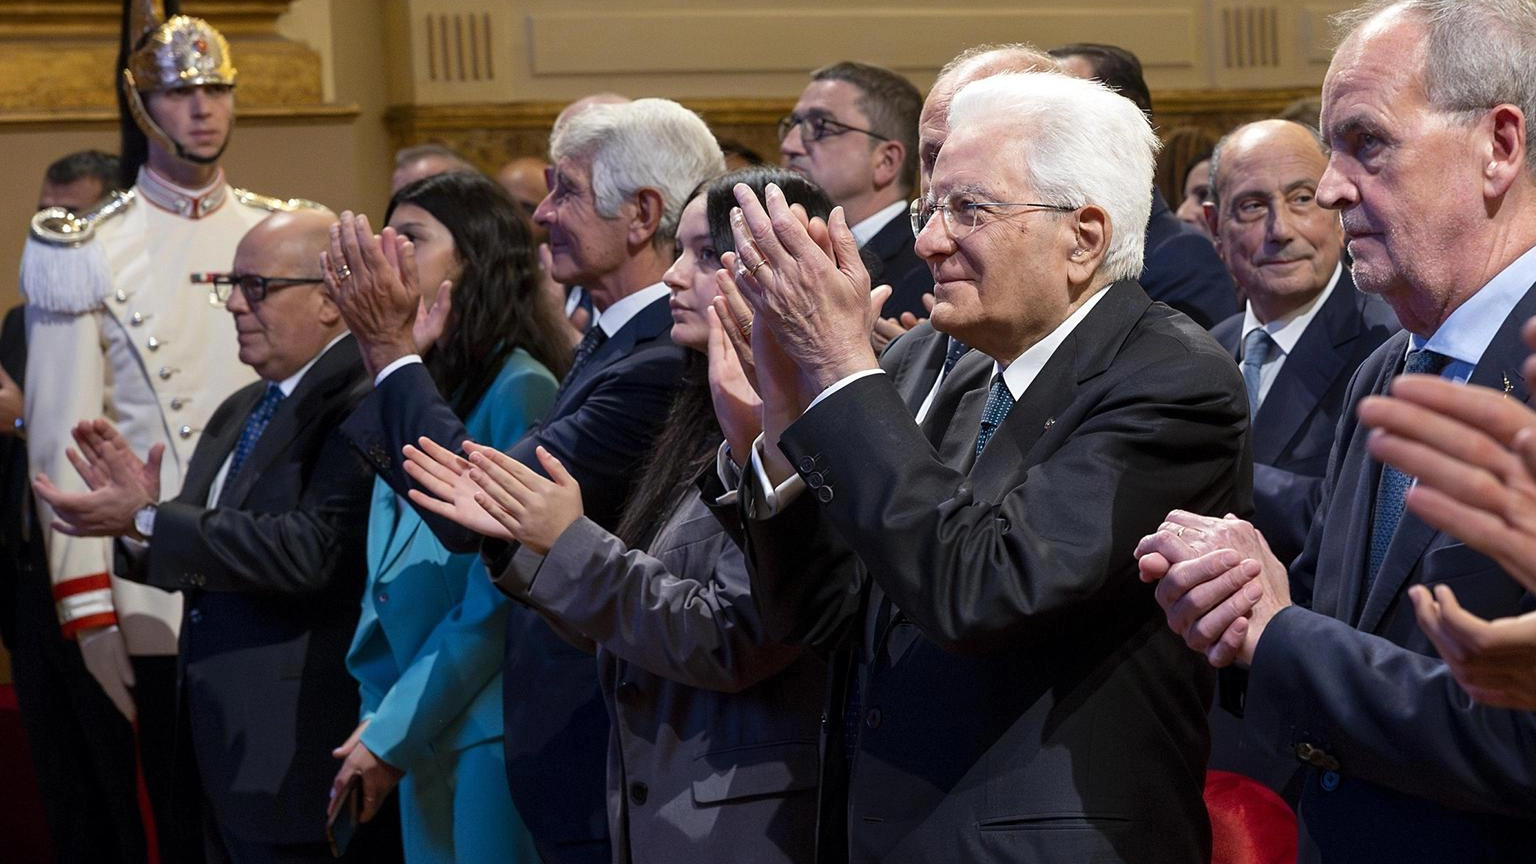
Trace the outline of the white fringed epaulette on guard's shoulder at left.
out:
[[[22,297],[49,312],[81,314],[112,292],[112,268],[95,243],[95,228],[134,204],[134,191],[112,192],[98,208],[75,215],[48,208],[32,217],[22,251]]]

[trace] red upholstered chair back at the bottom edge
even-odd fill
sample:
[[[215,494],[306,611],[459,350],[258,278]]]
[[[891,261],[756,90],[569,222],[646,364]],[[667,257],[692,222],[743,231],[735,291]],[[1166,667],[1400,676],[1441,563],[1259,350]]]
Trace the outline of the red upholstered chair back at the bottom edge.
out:
[[[1263,783],[1206,772],[1210,864],[1295,864],[1296,813]]]

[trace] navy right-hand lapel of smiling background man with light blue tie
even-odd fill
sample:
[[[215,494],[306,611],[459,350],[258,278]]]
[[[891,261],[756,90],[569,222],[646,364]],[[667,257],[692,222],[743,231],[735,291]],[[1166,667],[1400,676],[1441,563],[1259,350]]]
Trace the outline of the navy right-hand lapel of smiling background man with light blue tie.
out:
[[[1361,327],[1355,284],[1346,272],[1286,355],[1284,366],[1253,418],[1253,461],[1273,464],[1301,424],[1318,410],[1344,366],[1344,346],[1359,338]]]

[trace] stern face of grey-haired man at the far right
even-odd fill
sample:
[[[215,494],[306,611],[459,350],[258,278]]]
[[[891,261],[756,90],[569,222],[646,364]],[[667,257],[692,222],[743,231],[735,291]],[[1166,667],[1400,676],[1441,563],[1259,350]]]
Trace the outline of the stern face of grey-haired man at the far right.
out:
[[[1322,83],[1333,148],[1318,188],[1341,211],[1355,283],[1387,300],[1435,292],[1462,268],[1448,254],[1482,203],[1482,158],[1456,118],[1424,94],[1425,28],[1387,14],[1339,46]]]

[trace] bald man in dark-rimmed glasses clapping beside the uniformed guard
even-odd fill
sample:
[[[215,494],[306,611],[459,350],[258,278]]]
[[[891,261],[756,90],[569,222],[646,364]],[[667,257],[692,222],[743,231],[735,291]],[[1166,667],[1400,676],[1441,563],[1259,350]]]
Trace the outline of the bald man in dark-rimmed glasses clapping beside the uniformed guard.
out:
[[[319,275],[332,221],[267,217],[232,272],[195,278],[233,315],[240,360],[261,380],[214,410],[180,495],[160,500],[164,449],[134,454],[106,420],[75,427],[89,492],[35,484],[69,533],[132,538],[127,578],[184,593],[177,750],[195,753],[209,847],[233,861],[332,859],[330,747],[356,726],[346,655],[373,474],[338,434],[367,374]],[[399,858],[358,839],[349,859]]]

